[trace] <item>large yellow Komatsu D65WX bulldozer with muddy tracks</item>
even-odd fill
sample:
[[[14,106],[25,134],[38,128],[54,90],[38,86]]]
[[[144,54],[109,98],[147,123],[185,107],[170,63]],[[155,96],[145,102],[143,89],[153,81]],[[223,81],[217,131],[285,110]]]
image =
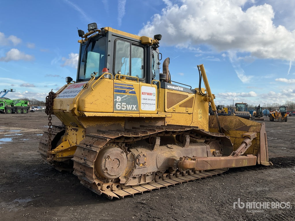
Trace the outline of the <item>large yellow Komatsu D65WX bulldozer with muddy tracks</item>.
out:
[[[96,23],[78,34],[77,79],[67,77],[46,98],[49,127],[39,152],[53,167],[112,199],[231,167],[272,165],[264,123],[217,116],[203,65],[195,89],[171,80],[169,58],[160,73],[160,34],[140,37]],[[62,126],[52,125],[53,114]]]

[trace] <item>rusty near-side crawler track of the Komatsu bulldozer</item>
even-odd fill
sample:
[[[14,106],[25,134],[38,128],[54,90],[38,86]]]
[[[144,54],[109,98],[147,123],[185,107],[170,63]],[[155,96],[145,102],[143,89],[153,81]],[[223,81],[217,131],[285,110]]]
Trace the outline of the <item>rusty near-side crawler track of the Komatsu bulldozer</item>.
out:
[[[112,142],[128,143],[138,141],[153,136],[174,136],[179,134],[188,134],[192,138],[205,141],[221,140],[224,146],[232,146],[229,137],[222,133],[211,133],[191,126],[140,126],[126,129],[124,131],[102,131],[98,130],[96,134],[86,134],[86,137],[77,145],[74,154],[74,174],[80,179],[81,183],[91,189],[93,192],[104,195],[109,199],[124,198],[125,196],[160,189],[183,182],[189,182],[196,179],[211,177],[222,174],[227,169],[217,169],[212,171],[176,171],[171,174],[163,174],[162,179],[153,182],[140,184],[137,186],[124,186],[118,180],[102,181],[97,178],[94,171],[94,161],[99,154],[100,149]]]

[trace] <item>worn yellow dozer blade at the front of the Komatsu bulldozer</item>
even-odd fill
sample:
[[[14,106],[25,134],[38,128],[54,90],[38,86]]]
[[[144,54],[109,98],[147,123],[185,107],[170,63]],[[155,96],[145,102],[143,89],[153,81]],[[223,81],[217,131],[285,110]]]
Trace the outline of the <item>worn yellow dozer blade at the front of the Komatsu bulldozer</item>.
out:
[[[226,136],[230,136],[235,151],[243,141],[243,134],[256,132],[257,137],[253,139],[252,145],[245,152],[257,156],[257,164],[265,166],[273,165],[268,161],[268,146],[265,131],[265,123],[258,123],[236,116],[219,116],[220,125],[227,130]],[[218,124],[214,116],[209,116],[209,131],[218,132]]]

